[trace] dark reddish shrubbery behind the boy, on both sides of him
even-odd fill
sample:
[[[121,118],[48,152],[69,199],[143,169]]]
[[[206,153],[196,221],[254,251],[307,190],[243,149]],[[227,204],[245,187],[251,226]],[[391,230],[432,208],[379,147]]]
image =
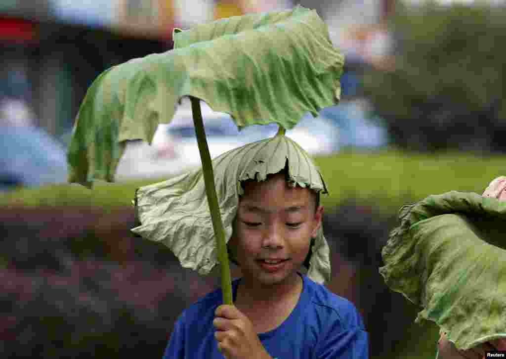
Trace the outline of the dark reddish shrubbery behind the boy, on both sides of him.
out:
[[[363,313],[374,353],[394,349],[413,320],[377,272],[393,224],[354,203],[324,218],[328,287]],[[133,225],[132,208],[0,209],[5,357],[161,357],[177,316],[220,282],[182,269],[170,250],[135,237]]]

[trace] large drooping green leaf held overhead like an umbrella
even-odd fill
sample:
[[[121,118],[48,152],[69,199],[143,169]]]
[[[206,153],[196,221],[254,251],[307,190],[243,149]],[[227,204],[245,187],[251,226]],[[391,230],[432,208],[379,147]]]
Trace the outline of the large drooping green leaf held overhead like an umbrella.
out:
[[[112,181],[125,141],[151,143],[183,96],[231,114],[239,128],[291,129],[339,101],[344,59],[316,11],[252,14],[176,32],[176,48],[114,66],[83,100],[68,152],[70,182]]]

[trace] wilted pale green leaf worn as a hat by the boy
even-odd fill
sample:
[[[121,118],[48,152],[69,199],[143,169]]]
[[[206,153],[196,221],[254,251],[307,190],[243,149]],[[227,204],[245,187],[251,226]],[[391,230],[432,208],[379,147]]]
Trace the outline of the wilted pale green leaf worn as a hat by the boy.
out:
[[[241,181],[264,181],[267,175],[278,173],[285,166],[288,179],[294,185],[327,193],[309,154],[284,135],[249,143],[213,159],[226,242],[232,235],[239,196],[243,194]],[[179,258],[183,267],[200,274],[209,273],[218,264],[202,169],[139,188],[136,204],[141,224],[132,229],[133,232],[164,244]],[[319,283],[330,280],[330,253],[322,226],[312,247],[308,276]]]

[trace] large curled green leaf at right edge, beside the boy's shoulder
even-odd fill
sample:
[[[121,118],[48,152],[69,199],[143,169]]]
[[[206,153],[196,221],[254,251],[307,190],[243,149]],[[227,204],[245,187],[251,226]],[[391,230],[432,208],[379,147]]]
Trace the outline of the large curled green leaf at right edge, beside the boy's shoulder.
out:
[[[506,202],[451,191],[400,219],[379,271],[423,307],[416,321],[434,321],[459,349],[506,337]]]

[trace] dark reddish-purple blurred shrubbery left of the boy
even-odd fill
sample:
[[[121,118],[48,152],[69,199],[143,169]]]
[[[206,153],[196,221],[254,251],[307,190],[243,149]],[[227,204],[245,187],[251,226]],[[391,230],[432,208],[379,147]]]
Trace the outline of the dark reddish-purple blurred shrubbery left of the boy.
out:
[[[218,282],[133,223],[130,208],[0,210],[5,357],[161,357],[177,316]]]

